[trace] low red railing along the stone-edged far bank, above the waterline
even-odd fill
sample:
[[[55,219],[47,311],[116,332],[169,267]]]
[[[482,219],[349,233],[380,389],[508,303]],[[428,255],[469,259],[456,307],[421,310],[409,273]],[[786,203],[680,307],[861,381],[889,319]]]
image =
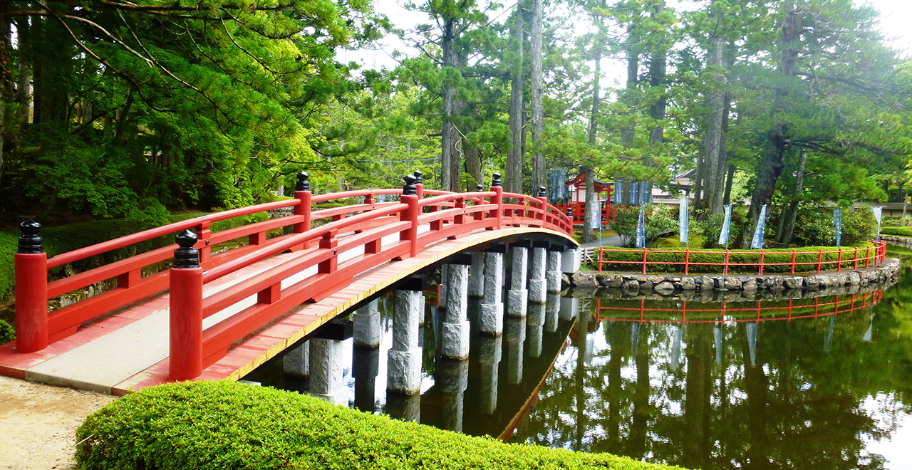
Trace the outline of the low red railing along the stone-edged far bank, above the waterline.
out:
[[[642,254],[641,259],[637,260],[606,260],[605,253],[626,253],[626,254]],[[657,255],[668,255],[668,254],[683,254],[684,261],[650,261],[649,256],[653,257]],[[835,260],[824,260],[824,255],[836,254]],[[843,255],[851,254],[851,258],[845,258]],[[720,255],[723,257],[721,262],[713,261],[691,261],[691,255]],[[731,255],[737,255],[739,258],[744,256],[755,256],[757,261],[731,261]],[[767,255],[775,256],[789,256],[791,255],[791,261],[787,262],[770,262],[766,261],[765,258]],[[816,255],[816,261],[796,261],[797,257],[807,257]],[[835,250],[824,250],[819,249],[817,251],[799,251],[799,250],[655,250],[642,248],[637,250],[623,250],[617,248],[606,248],[600,247],[598,250],[598,272],[603,271],[603,267],[606,264],[631,264],[639,265],[641,267],[641,272],[646,274],[648,271],[648,266],[683,266],[684,274],[689,274],[691,267],[703,267],[703,266],[714,266],[721,268],[723,274],[729,273],[730,267],[756,267],[758,274],[763,274],[763,270],[775,266],[786,266],[789,271],[794,274],[795,267],[797,266],[815,266],[817,272],[820,272],[825,269],[835,269],[835,271],[841,271],[844,264],[851,264],[853,269],[858,269],[860,262],[864,261],[864,267],[867,268],[870,263],[879,264],[886,259],[886,241],[878,241],[874,243],[873,246],[858,248],[837,248]],[[716,270],[719,271],[719,270]],[[802,270],[799,270],[802,271]]]

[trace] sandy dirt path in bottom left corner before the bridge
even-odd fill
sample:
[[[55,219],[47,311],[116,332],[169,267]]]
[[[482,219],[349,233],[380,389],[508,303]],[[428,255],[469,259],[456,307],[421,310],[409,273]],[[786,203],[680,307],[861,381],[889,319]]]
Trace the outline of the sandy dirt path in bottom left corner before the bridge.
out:
[[[0,375],[0,469],[70,469],[76,428],[115,397]]]

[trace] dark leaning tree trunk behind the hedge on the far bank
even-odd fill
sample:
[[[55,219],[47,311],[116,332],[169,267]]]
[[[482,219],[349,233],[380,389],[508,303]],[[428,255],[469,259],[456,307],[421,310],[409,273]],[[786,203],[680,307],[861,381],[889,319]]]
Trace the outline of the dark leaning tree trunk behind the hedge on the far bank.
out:
[[[798,60],[798,46],[796,43],[800,39],[801,25],[802,15],[799,14],[794,2],[790,1],[788,5],[785,5],[782,19],[782,59],[779,65],[779,72],[784,80],[795,75]],[[788,111],[789,107],[786,102],[788,95],[789,92],[786,87],[780,87],[776,90],[773,115]],[[751,196],[751,230],[756,227],[762,206],[764,204],[769,206],[772,201],[772,193],[776,189],[776,181],[782,176],[782,168],[785,165],[785,151],[788,148],[790,136],[789,125],[784,121],[773,124],[767,133],[767,149],[763,152],[760,165],[757,168],[757,182]],[[746,249],[750,244],[751,237],[744,237],[741,248]]]

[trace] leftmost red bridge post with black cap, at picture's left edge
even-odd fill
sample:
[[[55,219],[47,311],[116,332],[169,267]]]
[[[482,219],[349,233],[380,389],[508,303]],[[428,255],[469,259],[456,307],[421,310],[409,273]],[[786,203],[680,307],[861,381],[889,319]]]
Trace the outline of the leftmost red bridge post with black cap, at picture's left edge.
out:
[[[16,351],[35,353],[47,347],[47,253],[38,236],[41,224],[19,224],[16,251]]]

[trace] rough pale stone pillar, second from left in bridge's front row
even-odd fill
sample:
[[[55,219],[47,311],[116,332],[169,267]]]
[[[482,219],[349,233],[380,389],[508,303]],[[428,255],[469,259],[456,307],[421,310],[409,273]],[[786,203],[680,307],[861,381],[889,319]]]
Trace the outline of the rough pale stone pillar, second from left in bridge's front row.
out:
[[[393,291],[393,346],[387,360],[387,390],[411,395],[420,392],[421,348],[418,342],[420,291]]]

